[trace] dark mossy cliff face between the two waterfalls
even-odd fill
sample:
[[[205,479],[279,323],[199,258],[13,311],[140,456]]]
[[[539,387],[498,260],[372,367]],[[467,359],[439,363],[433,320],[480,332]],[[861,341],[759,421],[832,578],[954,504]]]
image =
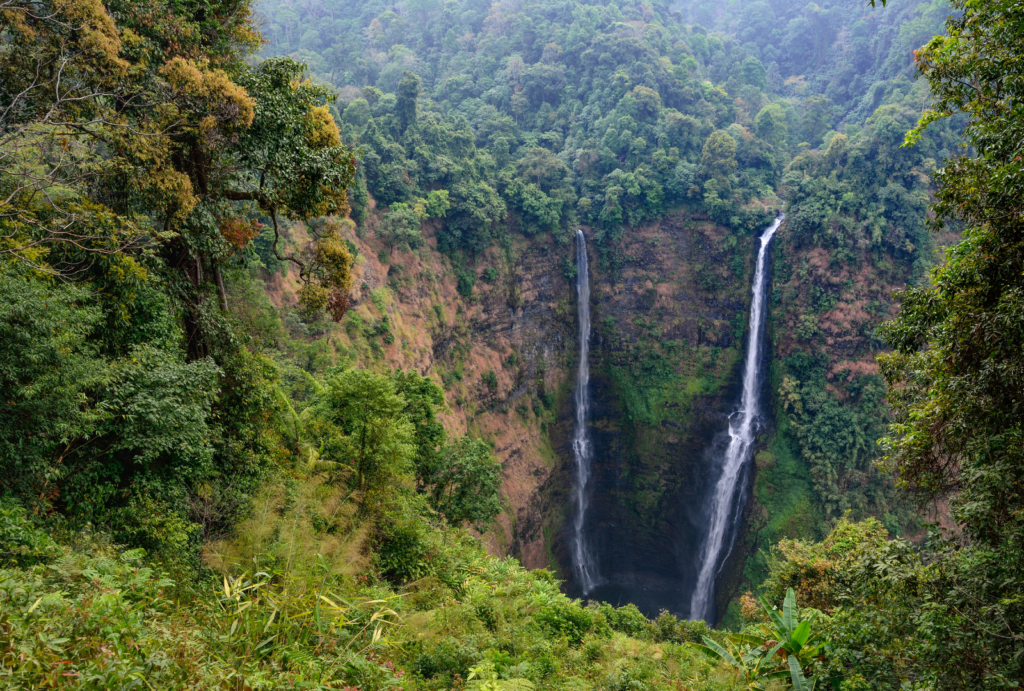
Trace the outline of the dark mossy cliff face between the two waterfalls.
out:
[[[631,231],[617,274],[595,262],[587,527],[606,585],[593,597],[688,613],[709,451],[738,395],[754,243],[680,214]],[[552,434],[560,459],[570,413]],[[549,505],[569,506],[570,470],[552,475]],[[552,532],[568,575],[567,534]]]

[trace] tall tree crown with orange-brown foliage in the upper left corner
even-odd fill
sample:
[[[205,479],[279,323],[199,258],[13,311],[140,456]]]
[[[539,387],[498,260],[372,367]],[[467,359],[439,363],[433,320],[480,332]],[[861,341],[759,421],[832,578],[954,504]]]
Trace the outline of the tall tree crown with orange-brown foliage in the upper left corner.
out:
[[[221,261],[255,234],[240,223],[347,211],[355,164],[330,94],[290,59],[250,64],[249,0],[10,0],[0,29],[0,255],[68,274],[96,254],[159,251],[193,357],[209,352],[206,293],[226,308]],[[274,252],[337,284],[312,270],[313,234]]]

